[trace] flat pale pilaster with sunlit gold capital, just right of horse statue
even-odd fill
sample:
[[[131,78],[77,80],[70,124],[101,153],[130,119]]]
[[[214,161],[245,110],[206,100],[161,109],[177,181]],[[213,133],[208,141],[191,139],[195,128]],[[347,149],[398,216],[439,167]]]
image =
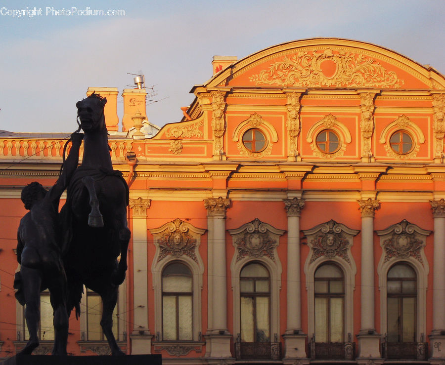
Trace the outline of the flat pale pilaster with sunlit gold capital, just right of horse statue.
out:
[[[148,329],[148,266],[147,266],[147,208],[149,199],[130,199],[133,210],[133,297],[134,317],[132,354],[148,354],[151,349]],[[148,352],[147,352],[148,351]]]

